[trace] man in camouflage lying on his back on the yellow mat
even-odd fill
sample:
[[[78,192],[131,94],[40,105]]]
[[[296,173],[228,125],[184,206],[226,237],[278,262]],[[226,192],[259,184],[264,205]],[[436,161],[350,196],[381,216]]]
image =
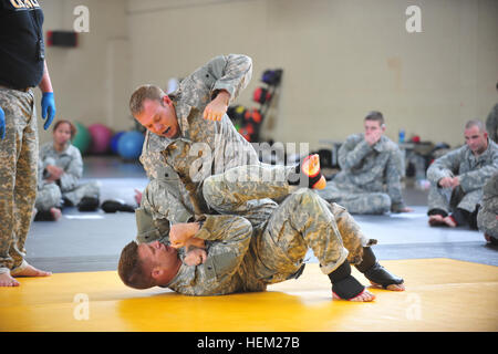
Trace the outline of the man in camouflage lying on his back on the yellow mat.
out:
[[[208,205],[219,212],[229,210],[236,215],[207,215],[200,222],[173,225],[173,247],[159,241],[128,243],[118,266],[123,282],[136,289],[159,285],[190,295],[263,291],[268,284],[298,278],[311,248],[332,282],[335,299],[374,300],[351,275],[349,252],[332,206],[307,188],[289,195],[286,179],[261,180],[264,174],[282,176],[282,169],[283,166],[241,166],[208,177],[203,187]],[[237,178],[242,175],[243,181]],[[269,199],[283,196],[287,198],[280,206]],[[356,230],[354,220],[336,207],[344,214],[343,230]],[[175,249],[199,239],[205,242],[186,254]],[[390,274],[376,262],[370,247],[364,246],[356,246],[359,270],[375,284],[404,290],[403,280]]]

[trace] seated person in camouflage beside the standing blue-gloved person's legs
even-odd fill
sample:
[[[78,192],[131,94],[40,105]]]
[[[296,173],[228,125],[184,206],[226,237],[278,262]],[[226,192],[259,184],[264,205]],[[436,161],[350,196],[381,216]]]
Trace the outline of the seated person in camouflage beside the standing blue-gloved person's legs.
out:
[[[53,142],[40,147],[34,221],[59,219],[61,198],[64,206],[77,206],[81,211],[98,208],[98,183],[79,184],[83,159],[80,150],[71,144],[75,134],[76,128],[71,122],[58,121],[53,127]]]

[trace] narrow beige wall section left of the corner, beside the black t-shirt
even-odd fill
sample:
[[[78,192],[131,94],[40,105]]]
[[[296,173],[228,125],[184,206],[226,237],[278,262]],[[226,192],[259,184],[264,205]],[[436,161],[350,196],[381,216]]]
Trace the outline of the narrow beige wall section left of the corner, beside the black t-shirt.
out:
[[[73,30],[76,6],[90,10],[90,32],[79,33],[76,48],[46,48],[56,118],[114,129],[133,126],[126,102],[129,87],[129,42],[123,0],[45,0],[43,30]],[[38,105],[39,108],[40,105]],[[51,139],[39,119],[40,140]]]

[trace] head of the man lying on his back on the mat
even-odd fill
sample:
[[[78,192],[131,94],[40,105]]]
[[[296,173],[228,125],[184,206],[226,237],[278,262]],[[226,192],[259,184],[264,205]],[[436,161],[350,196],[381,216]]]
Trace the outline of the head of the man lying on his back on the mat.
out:
[[[121,252],[117,273],[125,285],[148,289],[166,285],[180,266],[175,248],[159,241],[141,244],[132,241]]]

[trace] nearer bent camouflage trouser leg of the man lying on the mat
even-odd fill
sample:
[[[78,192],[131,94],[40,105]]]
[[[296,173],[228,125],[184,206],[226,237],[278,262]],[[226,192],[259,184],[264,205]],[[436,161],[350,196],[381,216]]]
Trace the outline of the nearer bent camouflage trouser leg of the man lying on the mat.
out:
[[[259,259],[255,272],[267,283],[292,278],[303,264],[308,249],[319,259],[324,274],[347,258],[328,202],[310,189],[302,188],[287,197],[260,233],[255,233]]]

